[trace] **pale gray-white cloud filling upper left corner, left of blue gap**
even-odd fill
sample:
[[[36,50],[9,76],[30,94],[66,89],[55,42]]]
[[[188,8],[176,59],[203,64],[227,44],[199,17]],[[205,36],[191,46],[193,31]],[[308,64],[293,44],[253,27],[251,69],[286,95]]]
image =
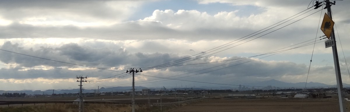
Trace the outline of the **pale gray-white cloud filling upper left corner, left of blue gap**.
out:
[[[142,1],[4,1],[1,17],[32,25],[110,25],[123,22]],[[44,9],[44,10],[43,10]]]

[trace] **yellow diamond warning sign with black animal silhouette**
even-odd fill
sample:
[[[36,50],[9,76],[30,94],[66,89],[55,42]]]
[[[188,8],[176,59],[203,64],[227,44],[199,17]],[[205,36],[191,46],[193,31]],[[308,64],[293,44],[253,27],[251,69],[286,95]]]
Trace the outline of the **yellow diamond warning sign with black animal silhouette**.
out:
[[[330,34],[332,33],[333,26],[334,22],[332,21],[332,19],[330,19],[330,17],[326,13],[324,13],[321,30],[327,36],[328,39],[330,38]]]

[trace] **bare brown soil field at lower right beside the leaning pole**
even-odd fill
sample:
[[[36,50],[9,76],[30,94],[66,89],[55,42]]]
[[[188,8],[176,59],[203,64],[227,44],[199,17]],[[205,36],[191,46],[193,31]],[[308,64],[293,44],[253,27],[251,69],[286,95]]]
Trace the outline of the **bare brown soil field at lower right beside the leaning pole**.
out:
[[[348,111],[350,103],[346,102]],[[339,112],[335,99],[205,99],[170,112]]]

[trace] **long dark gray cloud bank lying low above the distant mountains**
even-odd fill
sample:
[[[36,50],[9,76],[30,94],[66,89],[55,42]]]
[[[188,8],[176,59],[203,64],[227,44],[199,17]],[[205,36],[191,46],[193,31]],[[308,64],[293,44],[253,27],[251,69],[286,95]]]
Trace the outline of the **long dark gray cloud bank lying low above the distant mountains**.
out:
[[[76,43],[68,43],[62,45],[58,48],[45,48],[41,47],[38,50],[33,50],[32,48],[21,48],[17,43],[5,42],[4,45],[1,46],[1,49],[14,51],[16,53],[27,54],[36,57],[42,57],[47,59],[52,59],[56,61],[62,61],[67,63],[86,65],[92,67],[99,68],[111,68],[111,67],[119,67],[125,66],[127,68],[130,67],[152,67],[155,65],[165,64],[168,62],[177,61],[179,59],[185,58],[187,56],[179,56],[176,54],[168,54],[168,53],[129,53],[127,50],[122,48],[120,49],[109,49],[109,48],[90,48],[87,46],[80,46]],[[69,65],[65,63],[53,62],[44,59],[23,56],[19,54],[9,53],[6,51],[0,52],[2,57],[0,58],[1,62],[6,64],[16,64],[20,66],[52,66],[52,67],[81,67],[76,65]],[[229,57],[224,60],[237,59],[242,57]],[[195,59],[195,58],[193,58]],[[173,63],[170,65],[186,65],[186,64],[198,64],[198,63],[208,63],[219,61],[220,57],[212,57],[206,56],[200,59],[196,59],[194,61],[190,61],[183,64]],[[192,59],[190,59],[192,60]],[[240,60],[240,59],[239,59]],[[276,77],[279,75],[302,75],[306,74],[308,70],[308,66],[304,64],[296,64],[288,61],[263,61],[257,60],[252,61],[253,59],[245,59],[242,61],[233,60],[233,61],[225,61],[219,63],[210,63],[210,64],[198,64],[198,65],[186,65],[186,66],[173,66],[173,67],[165,67],[160,69],[161,71],[169,70],[174,75],[194,72],[182,76],[188,76],[198,73],[204,73],[212,70],[222,69],[224,67],[228,67],[226,69],[209,72],[206,74],[210,75],[230,75],[232,77]],[[189,61],[189,60],[186,60]],[[234,62],[238,61],[238,62]],[[252,62],[248,62],[252,61]],[[185,62],[185,61],[182,61]],[[231,63],[234,62],[234,63]],[[244,62],[248,62],[245,64],[241,64]],[[226,65],[224,65],[226,64]],[[240,64],[240,65],[237,65]],[[223,65],[223,66],[219,66]],[[215,67],[218,66],[218,67]],[[229,67],[232,66],[232,67]],[[210,67],[215,67],[212,69],[207,69]],[[6,78],[69,78],[72,74],[86,74],[91,77],[104,78],[113,76],[113,74],[119,72],[112,71],[104,71],[104,70],[83,70],[83,71],[73,71],[73,70],[65,70],[65,69],[54,69],[54,70],[27,70],[27,71],[18,71],[23,70],[24,68],[15,67],[11,69],[5,69],[3,73],[5,74],[13,74],[7,75]],[[28,68],[26,68],[28,69]],[[203,70],[207,69],[207,70]],[[323,70],[327,70],[323,67],[316,68],[320,73]],[[319,70],[321,69],[321,70]],[[328,69],[332,69],[331,67]],[[200,72],[195,72],[203,70]],[[117,70],[117,71],[126,71]],[[100,73],[99,73],[100,72]],[[317,72],[317,73],[318,73]],[[102,75],[103,74],[103,75]],[[24,76],[25,75],[25,76]],[[75,75],[74,75],[75,76]],[[179,76],[180,77],[180,76]],[[5,77],[4,77],[5,78]]]

